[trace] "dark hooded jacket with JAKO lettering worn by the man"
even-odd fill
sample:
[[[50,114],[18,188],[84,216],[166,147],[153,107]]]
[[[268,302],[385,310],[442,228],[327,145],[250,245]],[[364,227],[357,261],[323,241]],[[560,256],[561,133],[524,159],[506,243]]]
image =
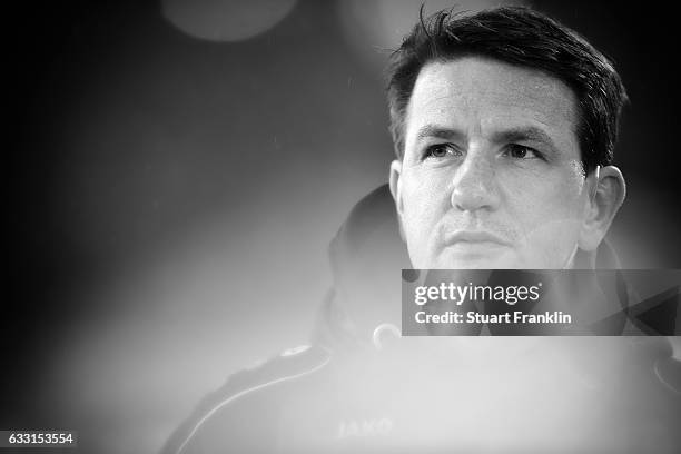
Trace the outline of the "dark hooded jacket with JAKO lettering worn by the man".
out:
[[[334,288],[310,345],[234,374],[164,453],[679,452],[664,338],[381,337],[409,267],[386,186],[329,255]]]

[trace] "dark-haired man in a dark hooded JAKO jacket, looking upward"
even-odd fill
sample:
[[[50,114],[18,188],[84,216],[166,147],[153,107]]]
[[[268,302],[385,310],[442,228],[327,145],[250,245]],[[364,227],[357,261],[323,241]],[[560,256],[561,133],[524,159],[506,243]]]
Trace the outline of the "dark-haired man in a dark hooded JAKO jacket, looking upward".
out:
[[[391,68],[394,204],[379,188],[334,239],[313,346],[234,375],[165,452],[678,450],[679,391],[653,373],[668,345],[384,337],[401,268],[616,267],[625,99],[605,57],[532,10],[422,20]]]

